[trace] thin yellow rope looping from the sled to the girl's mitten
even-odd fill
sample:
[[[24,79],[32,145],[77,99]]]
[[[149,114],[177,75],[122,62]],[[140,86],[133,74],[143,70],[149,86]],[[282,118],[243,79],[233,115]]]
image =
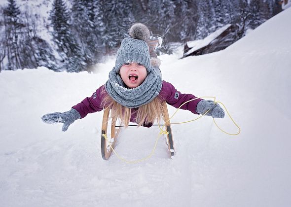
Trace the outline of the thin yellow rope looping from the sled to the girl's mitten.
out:
[[[162,127],[160,127],[160,125],[158,124],[158,127],[160,128],[160,133],[159,133],[158,137],[156,138],[156,141],[155,141],[154,147],[153,147],[153,149],[151,150],[151,153],[150,153],[149,155],[147,155],[146,157],[142,158],[142,159],[134,160],[134,161],[128,161],[128,160],[126,160],[125,158],[120,157],[120,156],[118,155],[118,153],[113,149],[112,144],[111,144],[111,142],[108,140],[107,135],[106,135],[106,134],[102,134],[102,136],[103,136],[103,137],[108,141],[111,150],[114,152],[114,154],[117,156],[118,159],[120,159],[120,160],[122,160],[122,161],[124,161],[124,162],[126,162],[126,163],[129,163],[129,164],[135,164],[135,163],[142,162],[142,161],[144,161],[144,160],[150,158],[150,157],[154,154],[154,151],[155,151],[155,149],[156,149],[157,142],[158,142],[159,138],[160,138],[162,135],[168,135],[168,134],[169,134],[168,131],[163,130],[163,128],[166,126],[166,123],[169,122],[169,121],[170,121],[170,120],[175,116],[175,114],[180,110],[180,108],[181,108],[184,104],[187,104],[187,103],[189,103],[189,102],[191,102],[191,101],[194,101],[194,100],[196,100],[196,99],[200,99],[200,98],[213,98],[215,103],[219,103],[219,104],[221,104],[221,105],[224,107],[224,109],[225,109],[227,115],[229,116],[229,118],[231,119],[231,121],[234,123],[234,125],[235,125],[235,126],[238,128],[238,130],[239,130],[238,133],[236,133],[236,134],[230,134],[230,133],[228,133],[228,132],[225,132],[224,130],[222,130],[222,129],[218,126],[218,124],[216,123],[216,121],[215,121],[214,118],[213,118],[213,121],[214,121],[215,125],[218,127],[218,129],[219,129],[221,132],[223,132],[223,133],[225,133],[225,134],[227,134],[227,135],[232,135],[232,136],[235,136],[235,135],[240,134],[240,132],[241,132],[240,127],[236,124],[236,122],[235,122],[235,121],[233,120],[233,118],[230,116],[230,114],[229,114],[228,110],[226,109],[225,105],[222,104],[221,102],[216,102],[216,97],[212,97],[212,96],[204,96],[204,97],[198,97],[198,98],[195,98],[195,99],[191,99],[191,100],[189,100],[189,101],[183,103],[182,105],[179,106],[179,108],[177,108],[177,110],[175,111],[175,113],[174,113],[174,114],[173,114],[173,115],[172,115],[172,116],[171,116],[171,117],[170,117],[170,118],[169,118],[169,119],[164,123],[164,125],[163,125]],[[196,118],[196,119],[189,120],[189,121],[185,121],[185,122],[180,122],[180,123],[171,123],[171,124],[183,124],[183,123],[188,123],[188,122],[196,121],[197,119],[200,119],[202,116],[204,116],[205,114],[207,114],[209,111],[210,111],[210,110],[206,111],[204,114],[202,114],[201,116],[199,116],[199,117]]]

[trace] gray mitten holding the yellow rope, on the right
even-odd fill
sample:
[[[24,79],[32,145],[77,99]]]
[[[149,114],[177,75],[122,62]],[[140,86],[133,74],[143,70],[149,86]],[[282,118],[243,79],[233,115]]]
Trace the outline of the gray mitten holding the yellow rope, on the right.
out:
[[[205,115],[212,116],[213,118],[224,117],[224,110],[220,107],[220,105],[211,100],[202,100],[198,102],[196,111],[200,114],[204,114],[206,111],[208,111]]]

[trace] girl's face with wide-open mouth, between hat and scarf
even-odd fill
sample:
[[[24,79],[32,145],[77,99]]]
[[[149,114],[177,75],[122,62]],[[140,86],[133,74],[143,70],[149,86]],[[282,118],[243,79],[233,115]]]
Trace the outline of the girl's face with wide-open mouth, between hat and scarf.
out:
[[[125,63],[119,72],[128,88],[136,88],[146,79],[146,67],[139,63]]]

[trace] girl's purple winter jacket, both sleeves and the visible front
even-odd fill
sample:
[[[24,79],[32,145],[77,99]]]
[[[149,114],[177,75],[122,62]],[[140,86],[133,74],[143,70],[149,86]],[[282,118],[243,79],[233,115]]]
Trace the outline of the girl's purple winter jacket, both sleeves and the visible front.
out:
[[[85,98],[81,103],[74,105],[72,108],[76,109],[81,118],[84,118],[88,113],[94,113],[96,111],[103,110],[101,105],[102,99],[104,98],[105,94],[101,93],[104,90],[105,85],[101,86],[96,90],[95,93],[91,97]],[[195,99],[196,97],[192,94],[182,94],[175,89],[175,87],[166,81],[163,80],[162,89],[159,93],[159,96],[162,100],[166,101],[167,104],[170,104],[176,108],[179,108],[184,102],[189,101],[191,99]],[[196,99],[191,101],[187,104],[184,104],[181,108],[185,110],[189,110],[194,114],[199,114],[196,112],[196,107],[198,102],[203,99]],[[132,108],[130,122],[136,122],[135,115],[133,113],[137,110],[137,108]],[[148,126],[150,127],[150,126]]]

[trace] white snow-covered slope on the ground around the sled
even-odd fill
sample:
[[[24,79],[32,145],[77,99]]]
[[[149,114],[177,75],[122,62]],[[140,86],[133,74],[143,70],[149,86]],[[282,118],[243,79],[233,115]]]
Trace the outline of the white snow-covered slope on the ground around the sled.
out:
[[[289,207],[291,204],[291,9],[225,50],[163,55],[163,79],[183,93],[216,96],[242,132],[223,134],[210,117],[172,125],[175,159],[165,139],[144,162],[126,164],[100,152],[103,113],[62,132],[40,117],[67,111],[108,78],[114,59],[96,73],[45,68],[0,73],[1,207]],[[280,38],[279,38],[280,37]],[[180,51],[182,53],[182,50]],[[176,109],[169,106],[169,113]],[[172,122],[197,115],[180,110]],[[226,117],[222,129],[237,129]],[[116,151],[148,155],[158,128],[123,129]]]

